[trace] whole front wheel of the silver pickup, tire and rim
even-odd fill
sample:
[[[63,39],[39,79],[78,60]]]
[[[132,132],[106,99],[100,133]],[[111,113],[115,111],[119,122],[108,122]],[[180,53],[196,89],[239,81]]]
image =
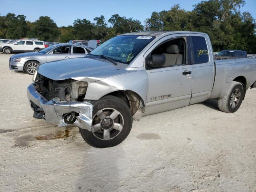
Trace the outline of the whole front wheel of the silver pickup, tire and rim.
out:
[[[132,114],[127,104],[115,96],[93,101],[92,130],[81,129],[82,138],[97,148],[120,144],[132,128]]]

